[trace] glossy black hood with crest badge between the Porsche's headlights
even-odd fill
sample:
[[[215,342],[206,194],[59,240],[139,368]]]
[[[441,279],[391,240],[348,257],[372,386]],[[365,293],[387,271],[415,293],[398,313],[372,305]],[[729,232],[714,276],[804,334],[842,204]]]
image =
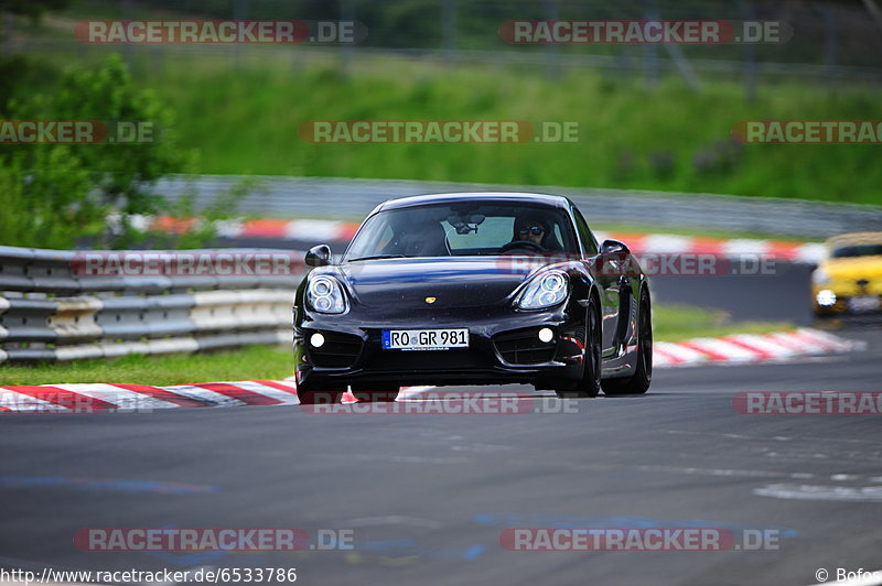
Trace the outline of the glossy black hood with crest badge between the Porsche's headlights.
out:
[[[475,307],[503,302],[528,270],[510,257],[378,259],[343,263],[337,274],[367,306]]]

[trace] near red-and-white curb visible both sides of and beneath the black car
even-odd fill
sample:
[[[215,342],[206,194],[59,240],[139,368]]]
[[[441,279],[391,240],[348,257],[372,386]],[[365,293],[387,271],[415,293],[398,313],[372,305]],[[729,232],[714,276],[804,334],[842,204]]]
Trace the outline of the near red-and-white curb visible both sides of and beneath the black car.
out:
[[[740,334],[722,338],[655,343],[656,368],[786,361],[800,356],[839,354],[857,344],[816,329],[779,334]],[[419,400],[433,387],[405,387],[398,400]],[[355,402],[351,392],[344,403]],[[43,384],[0,387],[0,412],[152,412],[175,408],[284,406],[300,404],[293,380],[203,382],[174,387],[148,384]]]

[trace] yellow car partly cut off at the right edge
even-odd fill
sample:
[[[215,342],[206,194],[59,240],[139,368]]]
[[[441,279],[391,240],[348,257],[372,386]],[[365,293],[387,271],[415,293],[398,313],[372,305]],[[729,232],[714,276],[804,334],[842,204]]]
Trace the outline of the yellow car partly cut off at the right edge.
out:
[[[835,236],[811,273],[815,315],[875,312],[882,307],[882,232]]]

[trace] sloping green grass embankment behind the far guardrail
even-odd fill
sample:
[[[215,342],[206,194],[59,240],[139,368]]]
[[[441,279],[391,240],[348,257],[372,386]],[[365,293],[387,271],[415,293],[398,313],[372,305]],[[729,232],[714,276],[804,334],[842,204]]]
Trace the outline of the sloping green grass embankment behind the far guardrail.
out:
[[[709,82],[695,95],[676,79],[655,93],[636,82],[580,70],[557,83],[503,67],[456,69],[405,59],[336,62],[271,54],[238,69],[184,56],[138,76],[179,115],[182,142],[202,171],[591,186],[879,203],[882,166],[873,145],[732,146],[738,120],[879,119],[863,89],[832,95],[766,86],[745,102],[736,83]],[[496,119],[579,121],[564,144],[310,144],[310,120]],[[707,167],[696,158],[712,160]],[[653,163],[669,158],[669,167]]]

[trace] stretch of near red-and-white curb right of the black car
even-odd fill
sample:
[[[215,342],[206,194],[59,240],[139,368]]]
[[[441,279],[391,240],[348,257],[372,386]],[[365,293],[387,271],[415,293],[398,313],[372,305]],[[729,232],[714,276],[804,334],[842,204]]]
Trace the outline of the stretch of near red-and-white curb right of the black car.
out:
[[[736,334],[720,338],[692,338],[685,341],[656,341],[656,368],[684,366],[781,362],[803,356],[842,354],[858,344],[811,328],[775,334]]]

